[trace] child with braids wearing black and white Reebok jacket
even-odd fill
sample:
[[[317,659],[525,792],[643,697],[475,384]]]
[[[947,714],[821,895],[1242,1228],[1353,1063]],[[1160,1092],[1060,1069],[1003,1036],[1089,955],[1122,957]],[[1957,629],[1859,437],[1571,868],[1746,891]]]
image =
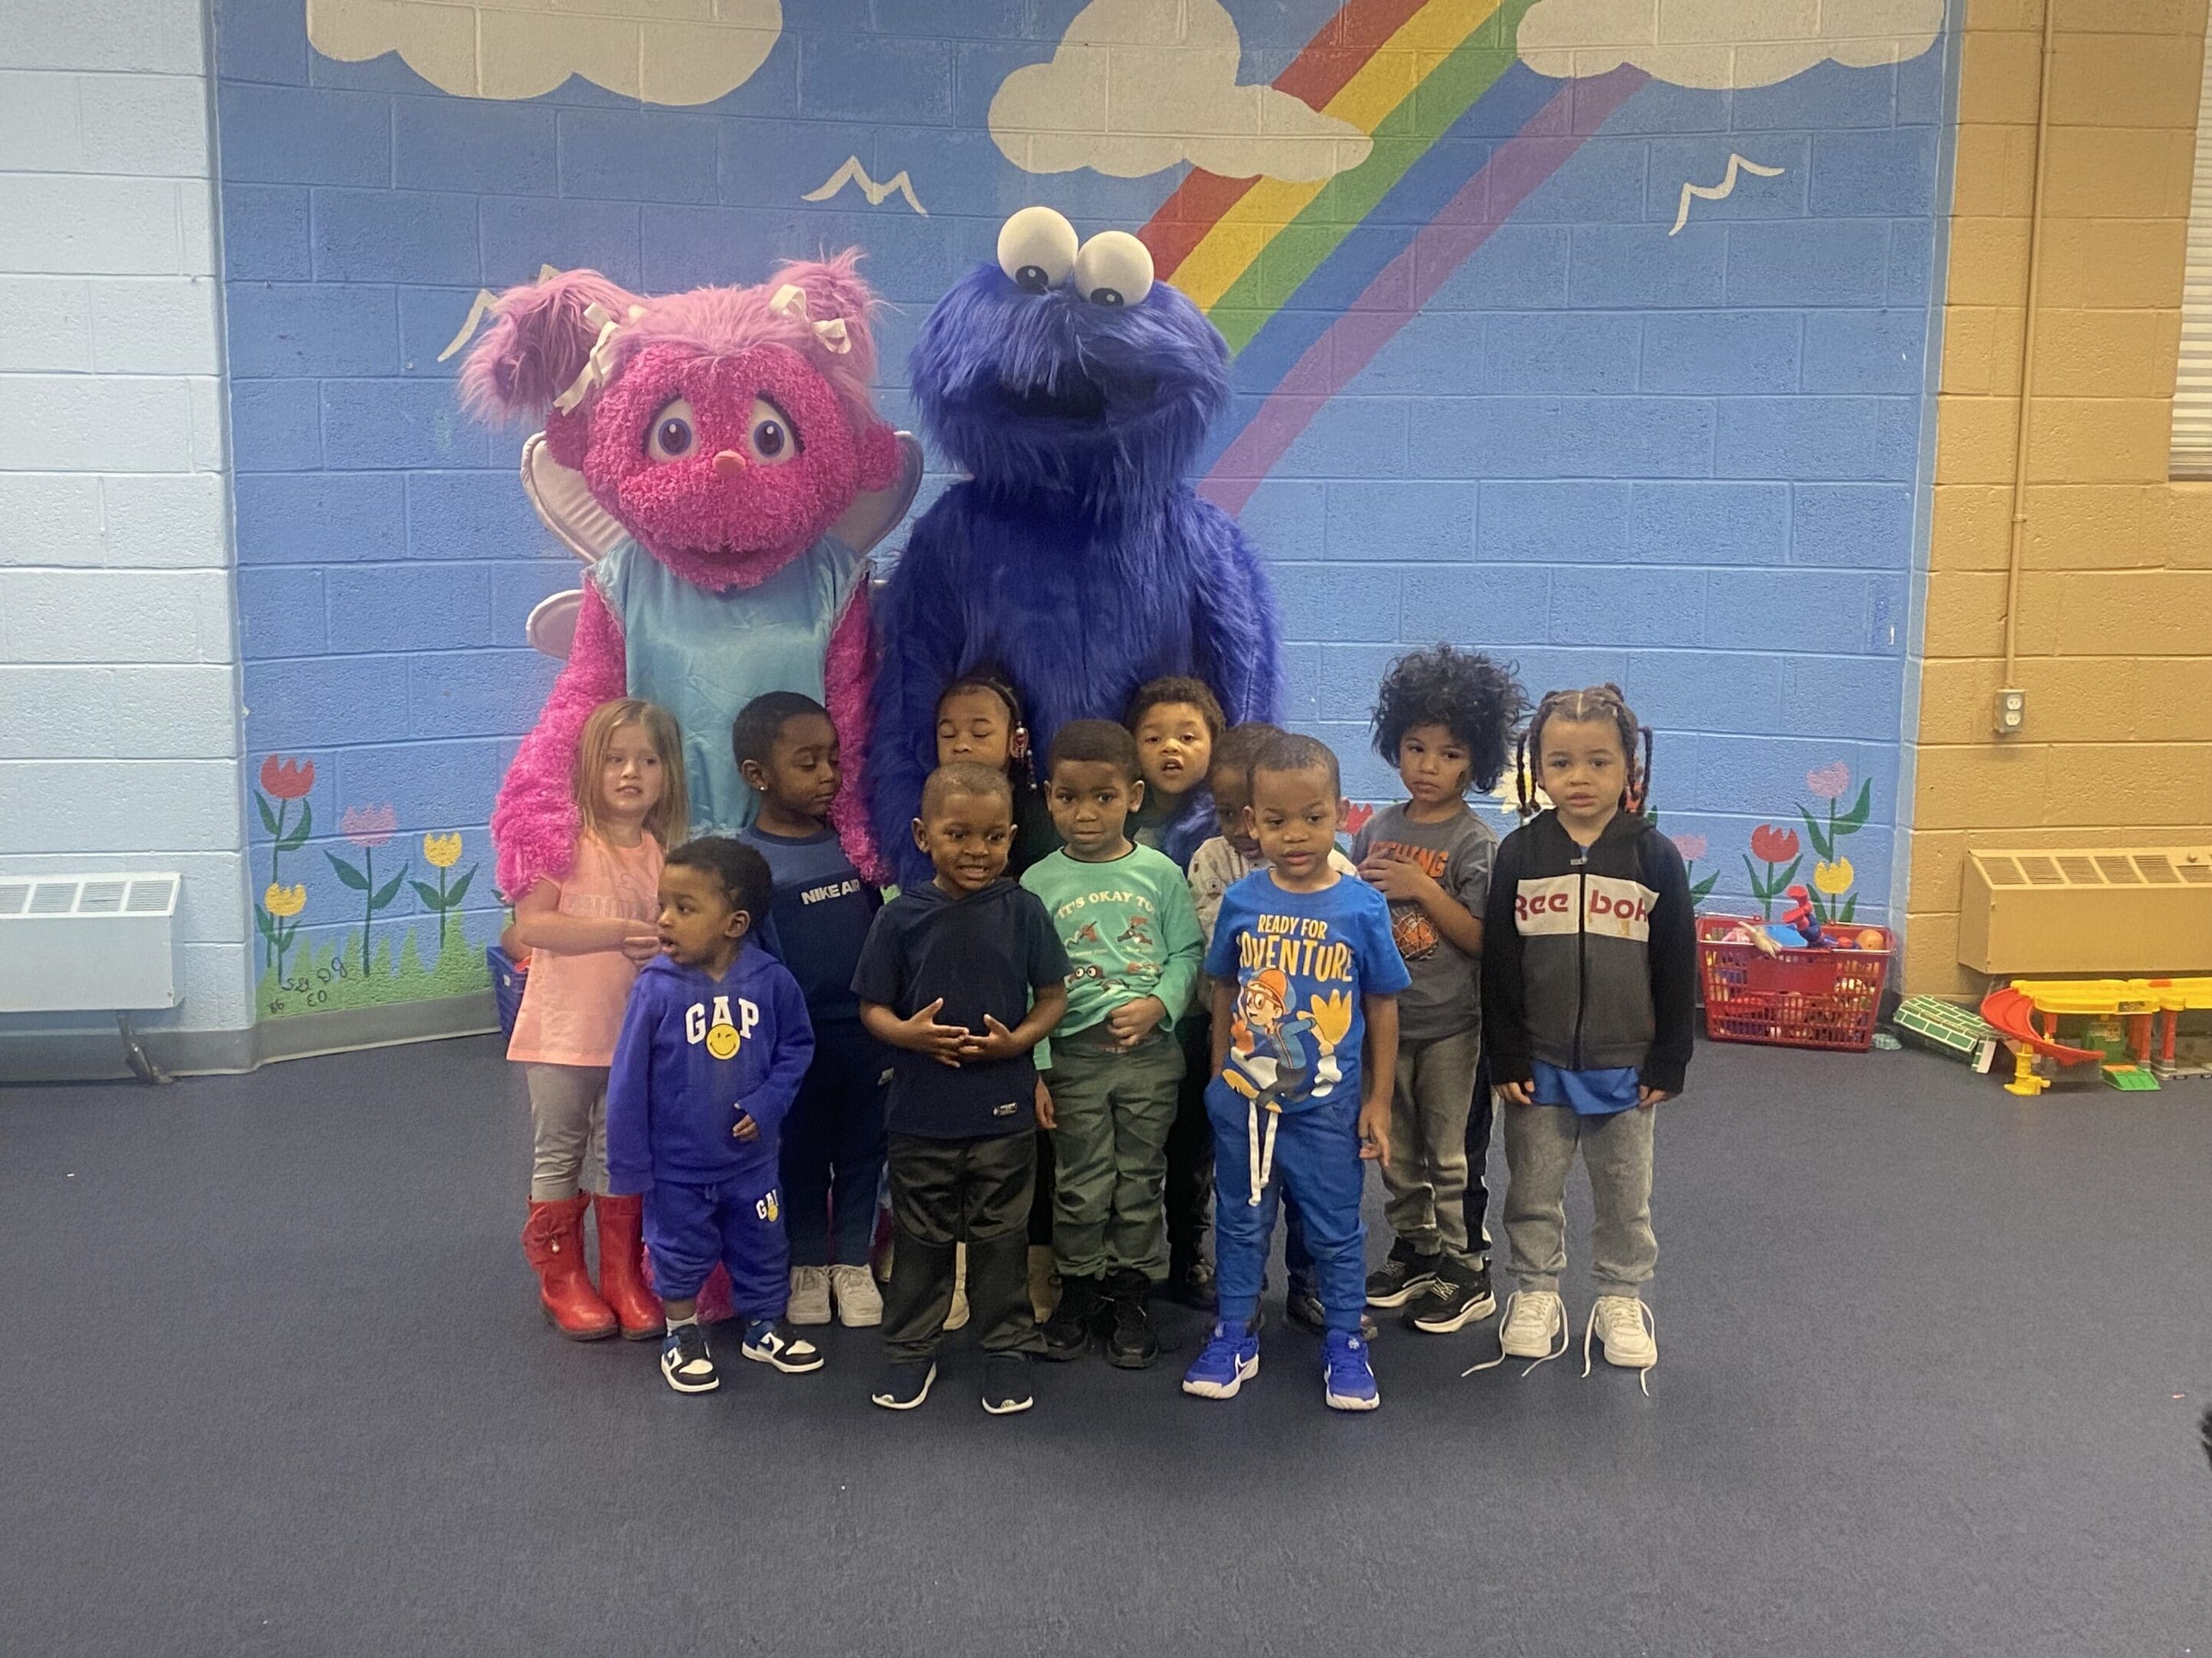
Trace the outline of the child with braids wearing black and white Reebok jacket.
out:
[[[1641,741],[1644,763],[1637,765]],[[1498,1333],[1504,1360],[1566,1351],[1566,1174],[1590,1174],[1590,1276],[1582,1335],[1606,1362],[1650,1371],[1659,1340],[1644,1307],[1652,1240],[1652,1108],[1690,1066],[1697,928],[1674,844],[1644,818],[1650,730],[1617,685],[1551,692],[1517,758],[1520,829],[1491,871],[1482,933],[1482,1024],[1506,1138],[1506,1245],[1520,1289]],[[1535,789],[1551,796],[1537,811]],[[1531,1366],[1533,1368],[1533,1366]]]

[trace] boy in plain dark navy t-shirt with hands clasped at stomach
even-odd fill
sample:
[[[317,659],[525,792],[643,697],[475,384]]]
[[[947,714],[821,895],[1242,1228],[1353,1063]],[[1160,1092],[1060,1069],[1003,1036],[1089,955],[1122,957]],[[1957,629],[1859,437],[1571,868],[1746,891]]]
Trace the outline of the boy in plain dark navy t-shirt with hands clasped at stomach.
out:
[[[883,906],[854,968],[860,1021],[891,1057],[891,1287],[885,1373],[872,1395],[911,1410],[936,1382],[967,1240],[984,1351],[982,1408],[1029,1410],[1029,1205],[1037,1172],[1031,1050],[1068,1008],[1068,957],[1035,893],[1006,880],[1013,787],[958,760],[922,785],[914,842],[936,875]]]

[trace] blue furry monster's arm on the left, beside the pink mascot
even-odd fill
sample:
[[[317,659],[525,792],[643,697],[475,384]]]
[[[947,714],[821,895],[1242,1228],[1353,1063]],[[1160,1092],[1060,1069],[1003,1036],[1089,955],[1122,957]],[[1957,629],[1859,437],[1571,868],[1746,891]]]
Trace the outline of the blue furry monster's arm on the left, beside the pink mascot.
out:
[[[938,763],[938,696],[960,672],[967,639],[964,610],[973,597],[960,579],[967,528],[956,484],[914,522],[907,550],[876,601],[867,816],[902,886],[931,873],[911,825],[922,807],[922,783]]]

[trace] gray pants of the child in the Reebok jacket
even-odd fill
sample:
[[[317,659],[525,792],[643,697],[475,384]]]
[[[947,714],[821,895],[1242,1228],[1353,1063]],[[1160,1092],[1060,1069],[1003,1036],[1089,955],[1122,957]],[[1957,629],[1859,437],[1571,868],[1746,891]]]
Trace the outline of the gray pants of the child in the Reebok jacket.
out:
[[[1577,1116],[1566,1105],[1506,1105],[1506,1245],[1522,1289],[1557,1293],[1566,1271],[1566,1172],[1575,1147],[1590,1172],[1590,1280],[1599,1295],[1635,1295],[1659,1260],[1652,1238],[1652,1119],[1657,1110]]]

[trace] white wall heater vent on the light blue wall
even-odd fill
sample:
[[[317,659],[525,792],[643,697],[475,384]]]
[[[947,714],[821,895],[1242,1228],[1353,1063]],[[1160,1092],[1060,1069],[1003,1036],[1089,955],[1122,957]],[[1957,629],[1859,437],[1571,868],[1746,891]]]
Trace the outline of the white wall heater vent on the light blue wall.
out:
[[[173,873],[0,875],[0,1012],[177,1006]]]

